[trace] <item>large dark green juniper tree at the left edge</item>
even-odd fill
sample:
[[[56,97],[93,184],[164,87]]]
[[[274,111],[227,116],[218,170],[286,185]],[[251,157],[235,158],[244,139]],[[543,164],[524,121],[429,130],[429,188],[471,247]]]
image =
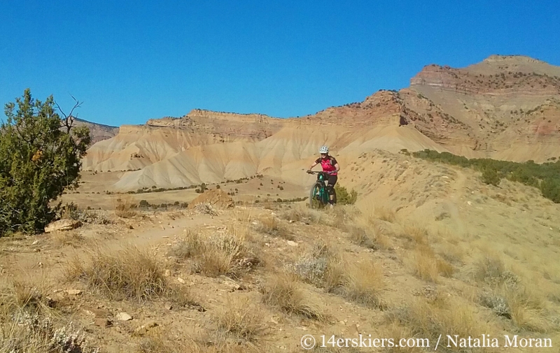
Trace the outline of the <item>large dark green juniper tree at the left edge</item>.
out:
[[[73,110],[64,118],[55,113],[52,96],[43,103],[25,89],[15,101],[0,125],[0,236],[41,231],[55,219],[60,203],[51,208],[50,201],[78,187],[91,141],[87,127],[73,127]]]

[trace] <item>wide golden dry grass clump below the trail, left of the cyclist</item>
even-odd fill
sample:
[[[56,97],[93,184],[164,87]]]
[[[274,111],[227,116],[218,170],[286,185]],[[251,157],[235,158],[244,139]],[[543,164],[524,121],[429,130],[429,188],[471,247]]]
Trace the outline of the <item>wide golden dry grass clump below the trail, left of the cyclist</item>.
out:
[[[245,245],[243,234],[226,231],[204,235],[188,231],[169,254],[179,259],[193,259],[195,271],[209,277],[239,278],[260,262]]]

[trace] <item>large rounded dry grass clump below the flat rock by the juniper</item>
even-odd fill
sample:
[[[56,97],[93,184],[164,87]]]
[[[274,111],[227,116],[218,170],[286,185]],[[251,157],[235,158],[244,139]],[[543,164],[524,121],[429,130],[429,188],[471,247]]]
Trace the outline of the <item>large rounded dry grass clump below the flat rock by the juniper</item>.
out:
[[[155,256],[137,247],[118,252],[94,250],[86,259],[66,264],[68,280],[83,280],[92,291],[115,299],[151,300],[169,289],[163,266]]]

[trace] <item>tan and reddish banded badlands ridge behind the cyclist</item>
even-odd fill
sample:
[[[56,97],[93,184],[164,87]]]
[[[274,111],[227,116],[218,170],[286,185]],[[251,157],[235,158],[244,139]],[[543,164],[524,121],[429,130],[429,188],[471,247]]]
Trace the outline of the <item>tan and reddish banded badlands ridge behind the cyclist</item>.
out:
[[[399,126],[404,119],[408,123]],[[129,171],[114,187],[181,187],[257,173],[304,185],[302,170],[330,145],[341,164],[376,149],[429,148],[466,157],[560,156],[560,68],[492,56],[464,69],[430,65],[411,86],[315,115],[277,119],[196,109],[120,127],[88,150],[83,168]]]

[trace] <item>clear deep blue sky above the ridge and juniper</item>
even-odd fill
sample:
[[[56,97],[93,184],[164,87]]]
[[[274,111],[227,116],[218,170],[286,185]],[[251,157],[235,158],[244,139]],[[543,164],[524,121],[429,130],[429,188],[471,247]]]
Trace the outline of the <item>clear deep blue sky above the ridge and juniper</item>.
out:
[[[78,117],[193,108],[302,116],[492,54],[560,65],[554,1],[3,1],[0,103],[26,87]]]

